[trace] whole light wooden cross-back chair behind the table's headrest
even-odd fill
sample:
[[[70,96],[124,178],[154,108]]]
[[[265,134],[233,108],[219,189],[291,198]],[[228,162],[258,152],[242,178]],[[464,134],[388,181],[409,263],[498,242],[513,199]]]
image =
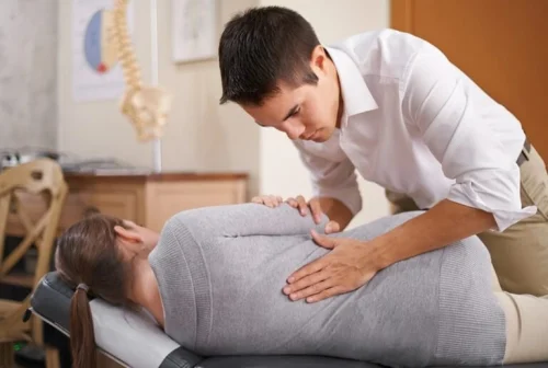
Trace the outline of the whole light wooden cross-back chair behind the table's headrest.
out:
[[[0,281],[35,246],[37,251],[33,289],[49,271],[54,241],[57,235],[59,218],[68,186],[59,164],[50,159],[38,159],[0,172]],[[21,195],[39,195],[47,202],[45,212],[30,215],[22,208]],[[9,216],[18,216],[26,230],[20,244],[4,258],[5,227]],[[44,346],[43,324],[31,317],[26,322],[23,315],[30,307],[31,295],[22,302],[0,299],[0,368],[14,366],[13,344],[28,342],[45,348],[46,367],[59,367],[57,349]]]

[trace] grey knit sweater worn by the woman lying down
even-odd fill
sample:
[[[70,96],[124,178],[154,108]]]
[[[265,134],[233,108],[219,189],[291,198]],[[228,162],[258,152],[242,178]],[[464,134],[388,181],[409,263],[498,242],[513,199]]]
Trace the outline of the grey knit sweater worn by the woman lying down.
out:
[[[370,240],[413,216],[334,237]],[[282,292],[287,277],[329,252],[310,238],[323,225],[288,205],[174,216],[149,256],[165,333],[202,355],[327,355],[395,367],[502,363],[504,314],[476,237],[396,263],[353,292],[290,301]]]

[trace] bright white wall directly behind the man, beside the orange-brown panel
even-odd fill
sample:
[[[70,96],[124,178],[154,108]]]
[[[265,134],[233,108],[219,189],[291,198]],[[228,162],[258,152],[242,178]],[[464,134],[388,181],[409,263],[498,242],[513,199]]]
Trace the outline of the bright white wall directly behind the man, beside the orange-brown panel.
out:
[[[261,0],[298,11],[315,27],[320,41],[330,44],[355,33],[389,26],[388,0]],[[274,129],[261,130],[260,189],[283,197],[311,195],[308,173],[287,137]],[[359,180],[364,209],[350,227],[389,214],[384,189]]]

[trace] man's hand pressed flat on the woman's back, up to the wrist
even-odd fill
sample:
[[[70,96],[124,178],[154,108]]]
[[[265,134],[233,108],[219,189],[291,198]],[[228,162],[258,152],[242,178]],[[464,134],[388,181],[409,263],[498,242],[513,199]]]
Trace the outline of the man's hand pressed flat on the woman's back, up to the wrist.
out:
[[[292,300],[306,298],[307,302],[317,302],[355,290],[381,269],[370,244],[355,239],[330,238],[313,230],[312,238],[318,245],[332,251],[289,276],[283,291]]]

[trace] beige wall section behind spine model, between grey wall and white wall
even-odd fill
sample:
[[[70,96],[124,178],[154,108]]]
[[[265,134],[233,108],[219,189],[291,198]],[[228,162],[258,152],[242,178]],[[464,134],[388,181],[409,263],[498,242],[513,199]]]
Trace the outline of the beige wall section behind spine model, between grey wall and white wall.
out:
[[[134,0],[133,41],[145,82],[151,76],[149,0]],[[233,13],[255,0],[221,0],[219,34]],[[164,171],[246,171],[256,192],[259,128],[233,105],[219,106],[216,60],[172,62],[171,0],[158,0],[159,84],[174,95],[162,139]],[[152,145],[140,143],[117,101],[76,103],[71,97],[71,1],[59,1],[59,149],[80,158],[112,157],[152,166]],[[244,143],[242,143],[243,141]]]

